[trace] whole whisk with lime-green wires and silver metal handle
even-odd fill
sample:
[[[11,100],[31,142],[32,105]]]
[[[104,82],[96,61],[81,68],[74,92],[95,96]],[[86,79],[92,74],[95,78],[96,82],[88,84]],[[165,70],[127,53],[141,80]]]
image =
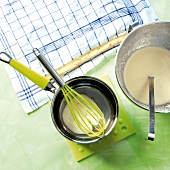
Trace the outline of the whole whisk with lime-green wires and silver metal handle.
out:
[[[42,65],[60,86],[68,108],[77,126],[86,135],[101,138],[105,133],[106,121],[100,108],[89,100],[88,97],[81,95],[69,87],[38,49],[34,49],[33,51]],[[38,54],[36,51],[38,51]]]

